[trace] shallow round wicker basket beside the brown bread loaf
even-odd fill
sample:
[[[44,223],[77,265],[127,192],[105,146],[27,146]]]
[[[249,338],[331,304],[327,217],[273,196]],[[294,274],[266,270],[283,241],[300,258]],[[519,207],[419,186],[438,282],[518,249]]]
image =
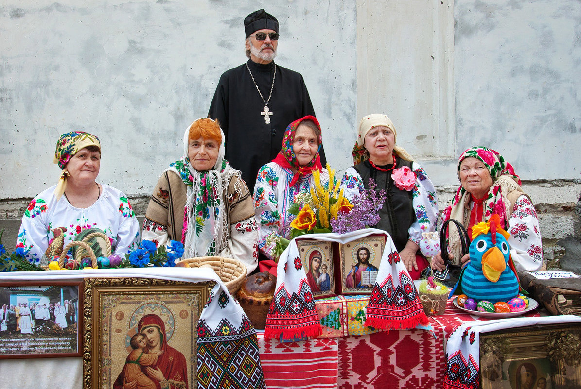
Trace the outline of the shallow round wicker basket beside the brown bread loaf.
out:
[[[246,279],[246,266],[232,258],[225,257],[196,257],[181,260],[191,268],[211,268],[226,284],[230,294],[234,296]]]

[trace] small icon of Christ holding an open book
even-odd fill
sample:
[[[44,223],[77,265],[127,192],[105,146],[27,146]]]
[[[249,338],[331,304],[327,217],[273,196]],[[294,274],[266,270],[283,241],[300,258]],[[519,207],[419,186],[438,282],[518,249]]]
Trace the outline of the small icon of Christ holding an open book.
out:
[[[381,235],[339,244],[337,283],[342,294],[371,294],[384,247]]]

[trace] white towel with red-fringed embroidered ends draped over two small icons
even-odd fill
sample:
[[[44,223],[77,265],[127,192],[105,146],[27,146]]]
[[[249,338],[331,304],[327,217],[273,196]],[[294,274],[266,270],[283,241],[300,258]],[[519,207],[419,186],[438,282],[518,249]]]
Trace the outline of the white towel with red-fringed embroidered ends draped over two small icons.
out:
[[[345,244],[372,234],[385,236],[386,243],[367,304],[365,326],[408,329],[428,325],[418,291],[388,233],[368,228],[342,235],[309,234],[300,238]],[[267,315],[264,336],[278,338],[282,335],[283,339],[320,336],[321,323],[315,309],[313,291],[307,281],[295,240],[281,254],[277,274],[277,287]]]

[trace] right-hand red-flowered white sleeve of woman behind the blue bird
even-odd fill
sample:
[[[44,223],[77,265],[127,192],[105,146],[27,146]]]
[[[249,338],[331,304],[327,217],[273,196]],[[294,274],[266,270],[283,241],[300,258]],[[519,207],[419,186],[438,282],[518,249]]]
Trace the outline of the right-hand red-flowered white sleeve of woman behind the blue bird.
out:
[[[508,244],[518,271],[535,271],[543,265],[543,245],[535,207],[526,196],[517,199],[508,219]]]

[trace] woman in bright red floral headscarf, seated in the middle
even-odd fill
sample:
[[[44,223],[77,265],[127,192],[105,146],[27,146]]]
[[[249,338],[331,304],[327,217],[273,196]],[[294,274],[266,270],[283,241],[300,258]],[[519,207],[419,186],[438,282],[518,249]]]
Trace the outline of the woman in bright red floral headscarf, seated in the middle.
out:
[[[321,171],[321,183],[328,185],[329,172],[321,166],[321,126],[314,116],[293,121],[286,128],[281,151],[260,168],[254,186],[254,212],[259,224],[261,253],[274,259],[275,237],[288,238],[295,215],[288,209],[298,193],[310,193],[313,171]],[[268,242],[267,242],[267,238]],[[262,263],[262,262],[261,262]]]

